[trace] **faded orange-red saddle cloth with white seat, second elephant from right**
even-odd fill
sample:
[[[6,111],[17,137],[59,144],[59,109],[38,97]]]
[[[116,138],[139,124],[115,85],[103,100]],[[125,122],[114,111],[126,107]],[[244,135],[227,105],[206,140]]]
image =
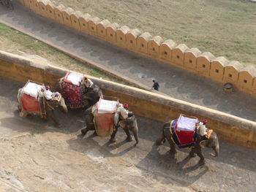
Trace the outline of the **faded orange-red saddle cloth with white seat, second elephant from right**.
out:
[[[99,99],[94,110],[94,126],[99,137],[108,137],[113,134],[114,116],[118,101]]]

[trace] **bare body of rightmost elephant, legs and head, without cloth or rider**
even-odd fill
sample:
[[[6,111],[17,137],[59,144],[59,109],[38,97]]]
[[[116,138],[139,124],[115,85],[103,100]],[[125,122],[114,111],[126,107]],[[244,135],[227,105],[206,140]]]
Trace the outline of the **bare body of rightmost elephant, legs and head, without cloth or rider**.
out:
[[[175,147],[176,143],[173,142],[173,134],[170,131],[171,122],[172,121],[168,121],[164,124],[162,128],[162,136],[157,139],[156,144],[162,145],[162,142],[165,142],[165,139],[167,139],[170,144],[170,153],[177,153]],[[208,139],[203,139],[203,137],[201,137],[199,134],[197,134],[197,136],[195,137],[194,146],[192,146],[189,156],[193,158],[197,154],[200,158],[200,161],[198,162],[198,164],[200,165],[206,164],[205,158],[202,153],[202,147],[211,147],[214,150],[215,154],[210,154],[214,157],[217,157],[219,155],[219,139],[217,137],[217,133],[213,131]]]

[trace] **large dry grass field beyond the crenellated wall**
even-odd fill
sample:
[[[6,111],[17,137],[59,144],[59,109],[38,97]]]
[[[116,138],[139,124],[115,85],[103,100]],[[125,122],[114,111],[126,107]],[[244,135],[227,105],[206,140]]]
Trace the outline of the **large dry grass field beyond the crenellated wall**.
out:
[[[54,0],[215,56],[256,65],[256,4],[245,0]],[[82,4],[82,6],[80,5]],[[238,46],[239,45],[239,46]]]

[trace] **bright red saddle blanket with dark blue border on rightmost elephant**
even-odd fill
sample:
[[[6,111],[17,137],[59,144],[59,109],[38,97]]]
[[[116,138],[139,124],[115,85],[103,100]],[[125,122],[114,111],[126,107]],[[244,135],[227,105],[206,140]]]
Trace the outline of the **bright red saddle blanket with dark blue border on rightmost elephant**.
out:
[[[192,147],[195,145],[195,138],[197,137],[197,129],[194,131],[178,131],[177,130],[177,121],[173,120],[170,123],[170,132],[173,134],[173,141],[180,148]]]

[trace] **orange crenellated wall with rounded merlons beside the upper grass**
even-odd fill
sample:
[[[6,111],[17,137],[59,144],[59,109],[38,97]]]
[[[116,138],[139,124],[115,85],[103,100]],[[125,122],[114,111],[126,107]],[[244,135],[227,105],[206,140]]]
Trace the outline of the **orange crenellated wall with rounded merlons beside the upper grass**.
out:
[[[238,61],[228,61],[215,57],[209,52],[201,53],[196,47],[177,45],[171,39],[152,37],[138,28],[130,29],[91,17],[88,13],[75,11],[64,5],[55,7],[49,0],[19,0],[21,4],[45,18],[55,20],[84,34],[103,39],[118,47],[123,47],[141,55],[163,61],[166,64],[208,77],[220,83],[231,82],[240,91],[256,96],[256,68],[244,67]]]

